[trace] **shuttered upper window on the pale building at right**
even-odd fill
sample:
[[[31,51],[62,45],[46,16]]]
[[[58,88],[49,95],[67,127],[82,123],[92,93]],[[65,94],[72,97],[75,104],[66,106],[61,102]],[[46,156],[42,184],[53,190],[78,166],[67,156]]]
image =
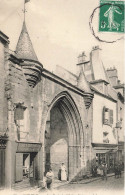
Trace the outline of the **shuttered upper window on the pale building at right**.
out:
[[[113,110],[103,107],[103,124],[112,125],[113,124]]]

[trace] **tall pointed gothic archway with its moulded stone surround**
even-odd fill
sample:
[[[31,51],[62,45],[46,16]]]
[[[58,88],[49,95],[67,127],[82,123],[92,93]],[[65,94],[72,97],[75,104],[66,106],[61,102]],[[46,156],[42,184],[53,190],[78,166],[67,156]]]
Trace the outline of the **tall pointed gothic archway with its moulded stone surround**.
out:
[[[71,180],[83,161],[83,125],[77,106],[67,92],[52,101],[45,128],[45,171],[51,166],[55,177],[62,162]]]

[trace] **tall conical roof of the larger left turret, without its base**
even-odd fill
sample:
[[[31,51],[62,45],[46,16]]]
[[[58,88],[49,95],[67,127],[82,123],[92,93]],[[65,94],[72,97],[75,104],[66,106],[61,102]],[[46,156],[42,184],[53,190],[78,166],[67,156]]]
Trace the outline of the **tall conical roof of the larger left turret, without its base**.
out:
[[[17,57],[20,59],[38,61],[26,28],[25,21],[23,22],[22,31],[16,46],[16,53]]]

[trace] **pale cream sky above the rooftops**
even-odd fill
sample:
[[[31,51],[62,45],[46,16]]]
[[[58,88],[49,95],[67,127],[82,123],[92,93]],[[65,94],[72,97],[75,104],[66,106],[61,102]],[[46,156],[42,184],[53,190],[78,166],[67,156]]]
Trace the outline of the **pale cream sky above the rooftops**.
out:
[[[23,24],[24,0],[0,0],[0,30],[15,50]],[[116,67],[121,82],[124,78],[124,39],[115,43],[98,41],[92,34],[89,21],[99,0],[30,0],[26,3],[26,26],[34,50],[44,68],[54,71],[56,65],[76,73],[78,55],[85,51],[86,59],[93,46],[101,48],[105,68]],[[122,33],[98,32],[99,9],[92,26],[105,40],[116,40]]]

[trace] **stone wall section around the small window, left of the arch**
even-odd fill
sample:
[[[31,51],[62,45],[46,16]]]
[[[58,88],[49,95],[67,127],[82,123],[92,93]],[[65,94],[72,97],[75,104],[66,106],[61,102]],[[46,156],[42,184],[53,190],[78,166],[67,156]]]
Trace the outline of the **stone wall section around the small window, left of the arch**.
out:
[[[6,81],[6,94],[8,101],[11,102],[11,114],[13,115],[13,117],[11,117],[11,131],[14,131],[15,139],[17,139],[17,126],[14,118],[15,108],[16,105],[22,104],[26,107],[26,110],[24,111],[26,113],[24,113],[24,124],[26,126],[25,130],[26,132],[29,132],[28,137],[26,137],[26,140],[24,141],[38,142],[38,125],[39,119],[41,117],[39,115],[39,99],[41,99],[41,94],[39,94],[39,87],[34,90],[29,87],[26,82],[22,67],[13,63],[12,61],[9,63],[9,74]]]

